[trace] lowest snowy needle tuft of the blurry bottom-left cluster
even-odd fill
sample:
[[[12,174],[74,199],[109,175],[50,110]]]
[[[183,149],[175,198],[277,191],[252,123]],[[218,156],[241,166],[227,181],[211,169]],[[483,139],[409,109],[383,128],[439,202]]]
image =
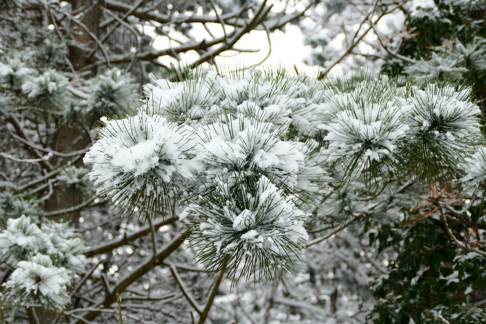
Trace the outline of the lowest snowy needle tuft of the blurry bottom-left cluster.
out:
[[[56,312],[70,302],[68,287],[72,276],[69,270],[52,265],[49,256],[35,255],[30,261],[20,261],[9,280],[2,284],[2,294],[13,309],[42,305]]]

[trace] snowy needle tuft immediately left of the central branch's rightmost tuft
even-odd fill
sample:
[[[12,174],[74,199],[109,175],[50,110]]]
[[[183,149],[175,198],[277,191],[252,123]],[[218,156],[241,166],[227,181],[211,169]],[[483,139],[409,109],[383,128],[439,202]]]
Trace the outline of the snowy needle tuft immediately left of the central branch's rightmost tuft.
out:
[[[387,78],[365,80],[354,89],[330,97],[329,106],[337,110],[328,124],[323,151],[328,161],[356,169],[383,162],[392,167],[399,158],[399,146],[409,130],[406,115],[395,97],[397,88]]]

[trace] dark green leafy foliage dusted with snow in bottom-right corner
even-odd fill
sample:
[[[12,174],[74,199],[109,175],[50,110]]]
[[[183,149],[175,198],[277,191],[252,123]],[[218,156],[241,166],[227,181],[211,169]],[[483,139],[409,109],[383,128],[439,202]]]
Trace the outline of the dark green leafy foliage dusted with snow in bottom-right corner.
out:
[[[411,216],[411,215],[410,215]],[[473,291],[486,289],[486,259],[464,252],[451,241],[439,217],[429,217],[415,226],[405,222],[384,224],[370,240],[379,250],[391,249],[397,258],[388,266],[389,274],[375,282],[378,305],[370,315],[374,324],[474,322]],[[449,222],[456,237],[467,233],[459,222]],[[476,311],[477,313],[477,311]]]

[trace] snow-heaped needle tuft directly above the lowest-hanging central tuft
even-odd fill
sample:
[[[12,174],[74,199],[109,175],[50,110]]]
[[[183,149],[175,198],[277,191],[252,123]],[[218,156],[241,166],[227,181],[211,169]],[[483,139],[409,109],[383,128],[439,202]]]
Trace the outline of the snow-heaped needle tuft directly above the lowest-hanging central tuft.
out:
[[[282,140],[272,123],[228,115],[198,128],[197,135],[201,141],[195,160],[204,166],[204,186],[219,181],[233,185],[242,175],[264,174],[279,187],[295,188],[304,154],[295,143]]]

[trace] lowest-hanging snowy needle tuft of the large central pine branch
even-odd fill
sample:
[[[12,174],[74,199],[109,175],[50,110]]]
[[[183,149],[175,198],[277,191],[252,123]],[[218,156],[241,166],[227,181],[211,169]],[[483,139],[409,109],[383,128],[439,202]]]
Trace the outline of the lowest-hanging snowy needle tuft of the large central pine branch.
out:
[[[233,187],[219,182],[191,212],[191,241],[200,260],[212,270],[226,265],[233,278],[271,278],[280,268],[288,270],[308,240],[303,225],[309,215],[265,176]]]

